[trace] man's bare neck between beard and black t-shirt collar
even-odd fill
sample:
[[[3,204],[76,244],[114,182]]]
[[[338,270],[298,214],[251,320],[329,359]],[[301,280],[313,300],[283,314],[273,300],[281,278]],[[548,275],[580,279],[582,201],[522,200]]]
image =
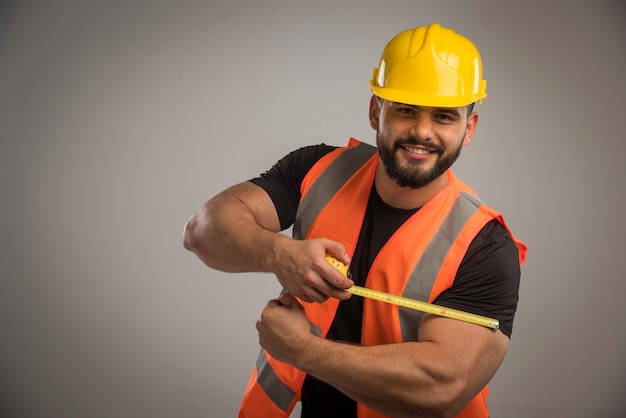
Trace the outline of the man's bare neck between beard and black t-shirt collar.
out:
[[[385,167],[379,164],[376,169],[376,191],[383,202],[397,209],[416,209],[424,206],[437,193],[448,185],[448,172],[437,177],[426,186],[419,189],[400,187],[389,178]]]

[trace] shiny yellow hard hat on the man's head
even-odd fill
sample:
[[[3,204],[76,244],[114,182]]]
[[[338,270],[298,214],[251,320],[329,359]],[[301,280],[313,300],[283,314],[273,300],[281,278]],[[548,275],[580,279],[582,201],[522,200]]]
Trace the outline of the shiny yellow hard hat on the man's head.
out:
[[[438,23],[400,32],[385,47],[370,87],[382,99],[461,107],[487,97],[474,44]]]

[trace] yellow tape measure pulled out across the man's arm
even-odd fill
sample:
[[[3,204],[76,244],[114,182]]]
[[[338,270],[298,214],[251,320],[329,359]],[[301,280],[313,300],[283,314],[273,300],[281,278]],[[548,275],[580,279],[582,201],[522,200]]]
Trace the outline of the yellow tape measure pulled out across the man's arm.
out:
[[[344,276],[348,276],[348,266],[346,264],[342,263],[341,261],[330,255],[326,256],[326,259]],[[458,309],[446,308],[445,306],[434,305],[432,303],[421,302],[419,300],[409,299],[403,296],[396,296],[390,293],[381,292],[379,290],[368,289],[361,286],[352,286],[351,288],[346,290],[353,295],[374,299],[381,302],[391,303],[393,305],[398,305],[408,309],[414,309],[416,311],[426,312],[433,315],[456,319],[458,321],[469,322],[470,324],[476,324],[483,327],[495,329],[500,327],[500,322],[497,319],[460,311]]]

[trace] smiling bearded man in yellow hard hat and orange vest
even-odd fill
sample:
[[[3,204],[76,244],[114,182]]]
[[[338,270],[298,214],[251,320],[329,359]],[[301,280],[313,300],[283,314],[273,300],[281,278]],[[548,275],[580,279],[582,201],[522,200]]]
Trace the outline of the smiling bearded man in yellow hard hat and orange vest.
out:
[[[304,147],[210,199],[184,245],[272,272],[240,417],[487,417],[526,254],[449,170],[486,97],[475,46],[439,24],[396,35],[370,82],[372,147]],[[293,224],[293,236],[278,232]],[[331,266],[350,264],[350,278]],[[354,282],[353,282],[354,280]],[[496,318],[500,329],[352,296],[353,284]]]

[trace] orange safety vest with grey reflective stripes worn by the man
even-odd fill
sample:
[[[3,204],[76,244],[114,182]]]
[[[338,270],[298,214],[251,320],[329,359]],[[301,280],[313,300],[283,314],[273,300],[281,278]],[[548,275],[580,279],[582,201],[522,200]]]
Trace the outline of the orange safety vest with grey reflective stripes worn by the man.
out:
[[[293,236],[324,237],[343,243],[352,257],[365,216],[379,157],[376,148],[351,138],[320,159],[302,182]],[[412,215],[376,256],[365,286],[432,302],[454,282],[470,243],[492,219],[506,227],[495,210],[448,170],[448,185]],[[507,227],[508,229],[508,227]],[[510,233],[510,231],[509,231]],[[513,236],[511,234],[511,236]],[[515,240],[520,265],[526,246]],[[338,299],[304,303],[311,332],[324,338]],[[422,312],[365,299],[361,345],[416,341]],[[300,399],[305,373],[261,350],[239,410],[240,418],[287,418]],[[457,415],[486,418],[487,386]],[[358,404],[359,418],[387,415]]]

